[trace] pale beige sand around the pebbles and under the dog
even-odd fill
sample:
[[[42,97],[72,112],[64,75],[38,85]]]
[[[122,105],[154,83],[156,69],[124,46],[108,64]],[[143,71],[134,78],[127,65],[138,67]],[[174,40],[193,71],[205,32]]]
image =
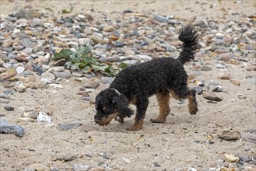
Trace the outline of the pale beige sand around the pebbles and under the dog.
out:
[[[108,12],[116,16],[124,9],[136,12],[154,10],[161,15],[174,15],[184,18],[202,15],[207,19],[219,19],[225,22],[230,12],[254,14],[253,1],[235,3],[235,1],[205,1],[205,5],[197,5],[191,1],[2,1],[1,16],[31,4],[35,9],[49,7],[58,11],[68,9],[68,4],[74,5],[75,12],[87,11],[92,8],[99,12]],[[212,5],[212,9],[210,6]],[[205,6],[202,8],[202,6]],[[184,8],[191,8],[191,14],[184,14]],[[204,10],[207,9],[207,10]],[[67,14],[68,15],[68,14]],[[109,16],[109,17],[110,17]],[[232,16],[230,16],[232,17]],[[227,22],[227,21],[226,21]],[[221,141],[217,138],[223,130],[237,130],[243,133],[255,128],[255,85],[244,81],[248,72],[244,65],[231,65],[230,72],[233,79],[240,82],[240,86],[230,81],[216,78],[219,70],[215,68],[218,61],[208,61],[213,70],[203,72],[197,79],[205,82],[220,82],[226,92],[219,92],[223,101],[208,103],[202,96],[198,96],[198,113],[191,116],[188,113],[188,102],[177,104],[177,100],[170,103],[171,113],[166,124],[152,124],[150,118],[156,117],[158,105],[156,98],[151,97],[147,110],[145,124],[140,131],[126,131],[133,123],[133,119],[125,120],[124,124],[112,121],[107,127],[99,127],[93,121],[94,106],[81,99],[76,93],[84,82],[74,79],[61,80],[63,89],[27,89],[26,92],[14,92],[9,106],[15,110],[7,112],[1,104],[1,114],[9,124],[17,124],[23,108],[35,109],[37,106],[51,111],[53,124],[21,122],[26,134],[17,138],[12,134],[0,134],[0,170],[23,170],[32,163],[43,163],[44,166],[60,170],[72,169],[75,164],[99,167],[109,164],[112,170],[174,170],[194,167],[198,170],[217,166],[217,160],[223,159],[223,154],[251,156],[255,151],[255,144],[244,141]],[[185,65],[189,74],[195,72],[191,65]],[[193,86],[190,84],[190,86]],[[4,89],[1,86],[1,92]],[[239,99],[238,94],[245,98]],[[82,121],[82,126],[70,131],[58,131],[56,126],[65,122]],[[213,136],[213,144],[209,144],[207,135]],[[195,143],[195,140],[200,143]],[[245,148],[251,148],[245,151]],[[104,159],[100,153],[106,152]],[[81,155],[83,157],[70,162],[55,161],[63,155]],[[157,162],[160,167],[153,166]]]

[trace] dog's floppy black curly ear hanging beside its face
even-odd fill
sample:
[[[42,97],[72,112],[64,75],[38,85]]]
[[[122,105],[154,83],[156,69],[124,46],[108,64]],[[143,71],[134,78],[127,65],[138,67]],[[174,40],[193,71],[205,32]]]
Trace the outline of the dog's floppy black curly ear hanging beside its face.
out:
[[[133,114],[133,111],[128,106],[128,99],[126,96],[115,96],[113,99],[114,105],[117,107],[117,111],[121,114],[123,117],[131,117]]]

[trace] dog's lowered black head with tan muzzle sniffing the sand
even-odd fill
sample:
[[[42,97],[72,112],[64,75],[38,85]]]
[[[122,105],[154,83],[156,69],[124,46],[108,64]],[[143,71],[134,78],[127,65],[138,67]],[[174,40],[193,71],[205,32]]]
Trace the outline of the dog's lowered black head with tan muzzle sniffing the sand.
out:
[[[128,107],[128,99],[116,89],[105,89],[96,96],[96,115],[94,121],[99,125],[107,125],[117,117],[131,117],[132,110]]]

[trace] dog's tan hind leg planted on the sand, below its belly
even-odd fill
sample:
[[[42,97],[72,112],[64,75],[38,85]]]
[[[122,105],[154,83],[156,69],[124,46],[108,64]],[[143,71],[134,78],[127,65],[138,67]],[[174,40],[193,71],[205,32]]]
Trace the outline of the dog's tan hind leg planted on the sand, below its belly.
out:
[[[150,121],[153,123],[165,123],[170,113],[170,93],[167,90],[162,90],[156,94],[156,99],[160,106],[160,114],[156,119],[150,119]]]

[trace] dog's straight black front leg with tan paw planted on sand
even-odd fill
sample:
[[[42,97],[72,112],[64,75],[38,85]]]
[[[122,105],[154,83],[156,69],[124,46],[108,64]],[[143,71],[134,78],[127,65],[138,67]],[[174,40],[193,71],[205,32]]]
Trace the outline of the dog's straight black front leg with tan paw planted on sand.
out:
[[[132,125],[132,127],[127,129],[128,131],[138,131],[142,129],[143,120],[145,118],[148,105],[149,105],[149,99],[147,98],[136,99],[135,106],[137,108],[137,111],[135,116],[135,123]]]

